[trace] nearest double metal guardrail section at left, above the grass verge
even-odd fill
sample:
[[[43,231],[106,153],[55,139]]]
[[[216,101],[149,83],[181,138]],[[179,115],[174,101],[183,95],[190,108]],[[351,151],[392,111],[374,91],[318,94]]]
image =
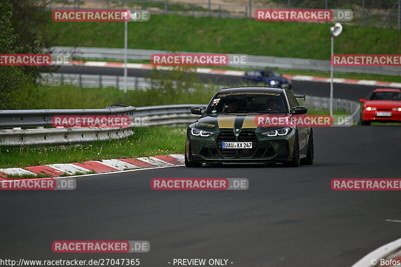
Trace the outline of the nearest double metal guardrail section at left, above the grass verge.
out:
[[[3,128],[0,130],[0,144],[67,145],[128,137],[134,134],[132,130],[135,121],[134,110],[134,107],[116,109],[0,110],[0,128]],[[130,125],[127,127],[44,128],[52,126],[52,117],[56,115],[121,115],[129,117]]]

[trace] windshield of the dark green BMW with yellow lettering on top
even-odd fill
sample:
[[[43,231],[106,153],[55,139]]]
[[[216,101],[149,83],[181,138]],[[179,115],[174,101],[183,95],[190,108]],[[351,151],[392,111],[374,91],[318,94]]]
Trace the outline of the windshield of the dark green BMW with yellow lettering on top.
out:
[[[285,97],[281,93],[235,92],[218,94],[206,113],[275,113],[287,114]]]

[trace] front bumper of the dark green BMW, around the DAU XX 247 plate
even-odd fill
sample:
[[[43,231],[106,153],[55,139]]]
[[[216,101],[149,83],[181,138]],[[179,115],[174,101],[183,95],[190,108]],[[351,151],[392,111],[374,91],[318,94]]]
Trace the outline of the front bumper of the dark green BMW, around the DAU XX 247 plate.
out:
[[[255,131],[222,130],[211,137],[192,136],[187,133],[186,156],[190,162],[259,162],[291,161],[295,130],[284,136],[267,137]],[[252,141],[252,149],[223,149],[222,141]]]

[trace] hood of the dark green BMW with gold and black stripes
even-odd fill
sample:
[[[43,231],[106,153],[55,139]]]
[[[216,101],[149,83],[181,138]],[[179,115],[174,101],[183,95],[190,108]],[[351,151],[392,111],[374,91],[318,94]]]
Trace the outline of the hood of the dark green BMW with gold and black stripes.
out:
[[[275,126],[269,124],[259,123],[260,117],[264,114],[260,113],[235,113],[235,114],[208,114],[203,115],[196,121],[191,127],[196,127],[198,129],[204,129],[209,131],[219,131],[219,130],[270,130],[284,127],[285,125]],[[284,116],[284,115],[282,115]],[[287,123],[288,124],[288,123]]]

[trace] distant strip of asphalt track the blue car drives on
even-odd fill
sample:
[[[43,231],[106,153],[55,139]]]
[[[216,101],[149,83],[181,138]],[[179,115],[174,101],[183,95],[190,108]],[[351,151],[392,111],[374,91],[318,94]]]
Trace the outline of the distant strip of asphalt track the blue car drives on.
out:
[[[60,73],[81,73],[93,75],[118,75],[123,76],[122,68],[106,68],[106,67],[79,67],[79,66],[62,66],[58,70]],[[128,76],[143,77],[148,75],[151,70],[128,69]],[[238,86],[242,82],[242,77],[225,76],[215,74],[198,74],[199,79],[203,82],[213,81],[217,84],[228,86]],[[335,76],[334,76],[335,77]],[[307,94],[312,96],[329,97],[330,84],[320,82],[293,81],[293,88],[296,93]],[[352,85],[352,84],[334,84],[334,98],[342,98],[358,101],[359,98],[365,98],[367,94],[377,86]],[[381,88],[385,88],[381,86]],[[212,96],[211,96],[212,97]]]

